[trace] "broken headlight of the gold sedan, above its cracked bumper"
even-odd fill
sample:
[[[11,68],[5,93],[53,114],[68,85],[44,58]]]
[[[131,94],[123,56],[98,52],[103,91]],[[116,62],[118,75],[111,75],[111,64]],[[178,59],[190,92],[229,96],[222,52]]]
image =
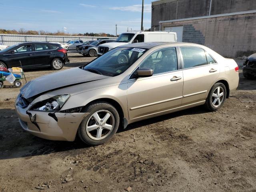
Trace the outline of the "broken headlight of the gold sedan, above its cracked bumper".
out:
[[[58,111],[62,108],[69,97],[70,95],[57,95],[34,104],[31,109],[38,111]]]

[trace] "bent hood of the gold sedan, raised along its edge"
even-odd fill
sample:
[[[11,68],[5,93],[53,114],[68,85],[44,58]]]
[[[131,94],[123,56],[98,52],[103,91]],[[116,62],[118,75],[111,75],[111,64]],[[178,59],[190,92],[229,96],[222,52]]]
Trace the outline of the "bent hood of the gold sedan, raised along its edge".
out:
[[[109,77],[110,76],[95,74],[76,67],[36,78],[23,86],[20,89],[20,93],[22,97],[28,99],[51,90]]]

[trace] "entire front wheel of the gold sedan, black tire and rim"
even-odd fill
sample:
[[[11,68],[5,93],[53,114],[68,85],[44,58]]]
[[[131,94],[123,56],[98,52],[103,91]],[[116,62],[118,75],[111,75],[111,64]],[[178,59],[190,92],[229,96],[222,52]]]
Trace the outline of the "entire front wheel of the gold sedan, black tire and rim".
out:
[[[84,110],[90,113],[78,128],[78,136],[88,145],[96,146],[110,140],[118,130],[120,117],[108,102],[95,102]]]

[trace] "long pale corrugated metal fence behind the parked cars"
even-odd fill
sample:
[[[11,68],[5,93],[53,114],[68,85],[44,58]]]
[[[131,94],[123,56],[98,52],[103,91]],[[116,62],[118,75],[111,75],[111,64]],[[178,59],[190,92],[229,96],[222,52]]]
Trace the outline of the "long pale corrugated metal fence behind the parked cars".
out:
[[[47,41],[47,42],[67,42],[68,40],[79,39],[82,41],[97,40],[100,38],[116,39],[115,37],[94,37],[94,36],[53,36],[53,35],[16,35],[0,34],[0,42],[12,46],[22,42],[29,41]]]

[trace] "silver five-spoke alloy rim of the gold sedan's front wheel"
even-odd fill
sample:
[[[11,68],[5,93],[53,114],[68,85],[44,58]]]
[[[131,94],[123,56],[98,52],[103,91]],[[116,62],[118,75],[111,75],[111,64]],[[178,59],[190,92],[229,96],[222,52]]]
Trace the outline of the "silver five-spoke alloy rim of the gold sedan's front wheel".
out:
[[[86,133],[94,140],[106,138],[114,128],[114,116],[108,110],[92,114],[86,123]]]

